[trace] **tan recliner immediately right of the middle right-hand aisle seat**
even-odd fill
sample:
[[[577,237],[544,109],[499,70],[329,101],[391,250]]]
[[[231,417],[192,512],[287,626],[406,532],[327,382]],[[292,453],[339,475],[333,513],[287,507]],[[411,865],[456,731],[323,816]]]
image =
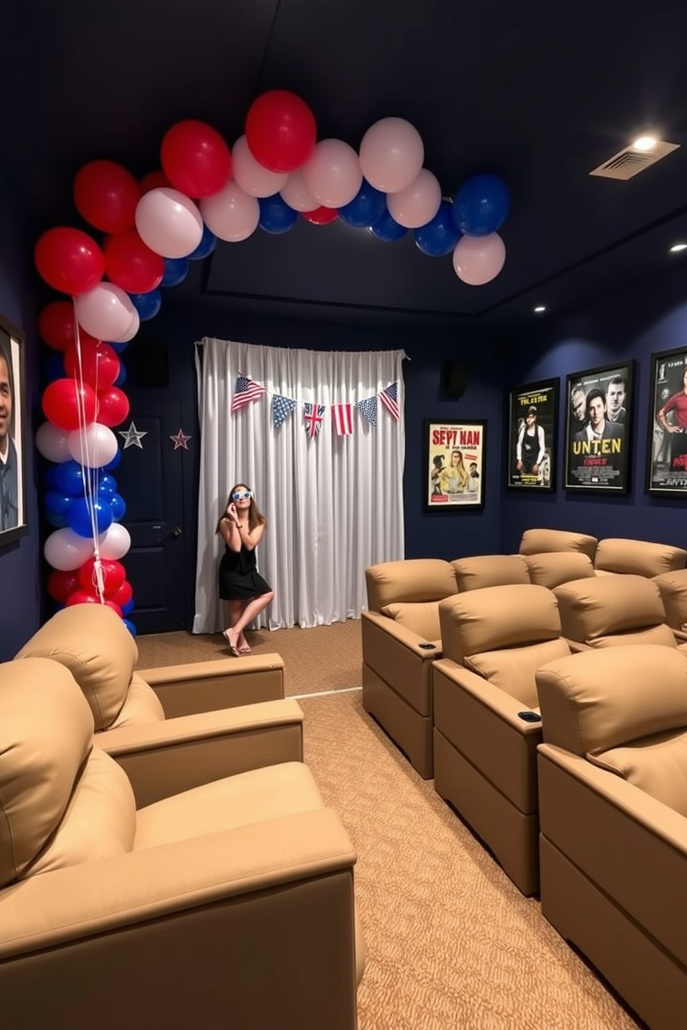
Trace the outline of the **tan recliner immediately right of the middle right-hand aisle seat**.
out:
[[[609,575],[555,587],[565,640],[578,649],[623,644],[677,647],[656,583],[645,576]]]

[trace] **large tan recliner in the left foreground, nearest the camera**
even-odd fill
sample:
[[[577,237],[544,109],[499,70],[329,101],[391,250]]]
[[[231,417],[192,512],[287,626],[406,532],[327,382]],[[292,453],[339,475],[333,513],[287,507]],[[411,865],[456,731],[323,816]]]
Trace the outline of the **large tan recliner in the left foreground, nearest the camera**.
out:
[[[93,730],[64,665],[0,666],[3,1026],[354,1030],[355,853],[307,766],[137,811]]]

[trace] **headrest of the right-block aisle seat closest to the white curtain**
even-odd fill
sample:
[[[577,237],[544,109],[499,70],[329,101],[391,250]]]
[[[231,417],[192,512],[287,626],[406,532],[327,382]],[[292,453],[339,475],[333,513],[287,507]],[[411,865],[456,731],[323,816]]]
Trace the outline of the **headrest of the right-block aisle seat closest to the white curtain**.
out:
[[[382,561],[365,570],[365,580],[371,612],[385,605],[441,600],[458,589],[453,566],[442,558]]]

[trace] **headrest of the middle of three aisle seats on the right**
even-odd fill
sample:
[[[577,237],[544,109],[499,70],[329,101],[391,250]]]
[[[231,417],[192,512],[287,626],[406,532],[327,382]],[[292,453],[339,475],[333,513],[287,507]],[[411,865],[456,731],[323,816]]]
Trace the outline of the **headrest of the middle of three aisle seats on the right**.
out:
[[[556,598],[533,583],[467,590],[439,603],[442,651],[459,664],[473,654],[560,637]]]

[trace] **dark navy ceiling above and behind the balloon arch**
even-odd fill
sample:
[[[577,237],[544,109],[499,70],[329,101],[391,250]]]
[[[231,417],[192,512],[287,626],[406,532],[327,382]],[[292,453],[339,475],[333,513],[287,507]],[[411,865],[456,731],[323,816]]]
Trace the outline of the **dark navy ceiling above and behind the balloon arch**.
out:
[[[636,0],[24,0],[3,5],[5,174],[32,232],[82,224],[75,173],[108,158],[160,167],[172,125],[232,146],[251,101],[281,88],[318,138],[356,150],[377,119],[419,131],[452,196],[508,183],[506,264],[484,286],[341,221],[257,230],[192,263],[178,298],[232,310],[432,317],[487,327],[585,304],[660,276],[687,238],[687,5]],[[680,149],[629,181],[589,172],[641,131]],[[686,268],[687,271],[687,268]]]

